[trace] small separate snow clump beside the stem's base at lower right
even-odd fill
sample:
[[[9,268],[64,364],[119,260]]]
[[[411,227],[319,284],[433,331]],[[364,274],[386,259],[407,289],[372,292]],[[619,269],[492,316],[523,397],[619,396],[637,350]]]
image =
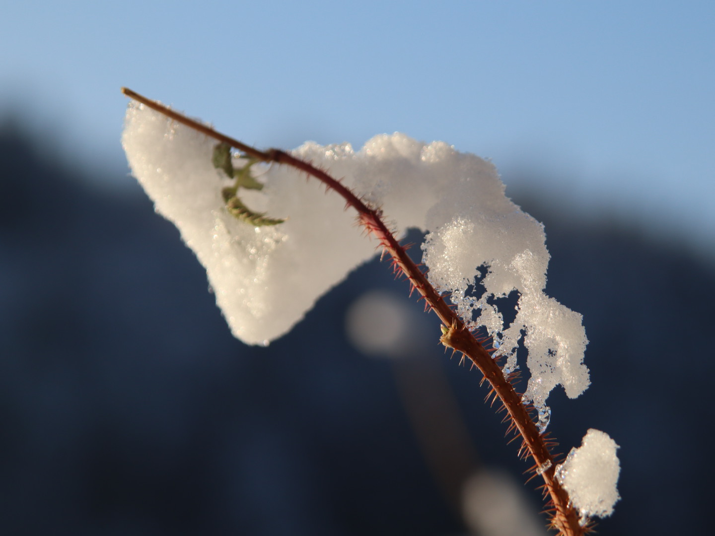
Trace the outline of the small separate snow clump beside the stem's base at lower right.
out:
[[[584,519],[611,515],[621,498],[616,487],[621,472],[616,449],[618,445],[606,432],[591,428],[581,447],[571,449],[566,461],[556,466],[556,478]]]

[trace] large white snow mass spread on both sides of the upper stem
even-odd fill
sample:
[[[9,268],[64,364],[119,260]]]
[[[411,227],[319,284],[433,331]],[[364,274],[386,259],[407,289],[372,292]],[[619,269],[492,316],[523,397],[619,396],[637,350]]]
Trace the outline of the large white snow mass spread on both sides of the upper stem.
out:
[[[374,241],[355,229],[355,214],[334,192],[279,165],[255,166],[261,191],[242,200],[271,217],[275,227],[252,227],[227,213],[227,179],[212,166],[215,141],[143,105],[127,110],[122,137],[129,166],[174,222],[207,269],[233,334],[267,344],[285,334],[315,300],[350,270],[373,257]],[[423,144],[404,134],[379,135],[359,151],[350,144],[307,142],[292,152],[342,179],[383,209],[397,229],[428,232],[424,261],[430,282],[451,292],[470,327],[484,326],[516,368],[521,342],[531,371],[525,402],[548,424],[546,397],[556,384],[569,397],[588,387],[581,315],[544,294],[548,252],[541,224],[504,194],[490,162],[443,142]],[[468,292],[479,281],[481,296]],[[516,319],[504,325],[493,299],[516,290]]]

